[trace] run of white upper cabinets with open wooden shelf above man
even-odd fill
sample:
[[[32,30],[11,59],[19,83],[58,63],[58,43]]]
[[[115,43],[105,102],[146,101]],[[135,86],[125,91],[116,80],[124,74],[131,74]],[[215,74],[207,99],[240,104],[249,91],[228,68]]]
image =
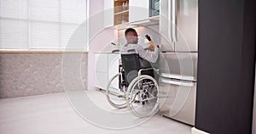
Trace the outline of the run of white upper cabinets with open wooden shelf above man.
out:
[[[159,3],[160,0],[105,0],[104,27],[158,24]]]

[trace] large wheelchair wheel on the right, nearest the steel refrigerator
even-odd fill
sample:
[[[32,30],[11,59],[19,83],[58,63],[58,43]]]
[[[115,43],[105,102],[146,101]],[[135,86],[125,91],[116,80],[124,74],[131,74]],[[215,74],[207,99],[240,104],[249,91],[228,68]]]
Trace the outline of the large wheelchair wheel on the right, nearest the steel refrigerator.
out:
[[[159,87],[153,77],[139,75],[131,81],[126,103],[131,114],[137,117],[154,115],[159,110]]]

